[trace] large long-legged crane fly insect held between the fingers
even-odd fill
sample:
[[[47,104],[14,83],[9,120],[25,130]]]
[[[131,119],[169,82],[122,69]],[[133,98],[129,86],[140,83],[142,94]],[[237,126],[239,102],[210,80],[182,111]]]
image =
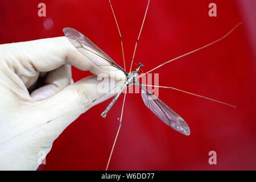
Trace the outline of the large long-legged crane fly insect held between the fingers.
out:
[[[172,110],[170,107],[168,107],[166,104],[164,104],[164,102],[161,101],[159,98],[157,98],[154,94],[149,92],[144,86],[156,86],[156,87],[159,87],[159,88],[175,89],[175,90],[178,90],[178,91],[183,92],[183,93],[191,94],[193,96],[205,98],[205,99],[210,100],[210,101],[218,102],[220,104],[224,104],[224,105],[228,105],[228,106],[236,108],[236,106],[234,106],[234,105],[230,105],[230,104],[227,104],[225,102],[217,101],[217,100],[214,100],[214,99],[209,98],[209,97],[204,97],[204,96],[200,96],[198,94],[190,93],[190,92],[187,92],[185,90],[180,90],[180,89],[176,89],[176,88],[169,87],[169,86],[141,84],[138,81],[138,78],[146,75],[147,73],[155,71],[155,69],[158,69],[158,68],[162,67],[163,65],[166,65],[166,64],[168,64],[172,61],[180,59],[181,57],[187,56],[187,55],[189,55],[193,52],[199,51],[200,49],[204,49],[206,47],[211,46],[212,44],[215,44],[215,43],[219,42],[220,40],[226,38],[226,36],[231,34],[238,26],[241,25],[241,23],[238,23],[235,27],[233,27],[228,33],[226,33],[221,38],[219,38],[217,40],[214,40],[213,42],[211,42],[211,43],[209,43],[209,44],[207,44],[203,47],[200,47],[200,48],[194,49],[191,52],[185,53],[184,55],[181,55],[181,56],[176,57],[172,60],[166,61],[163,64],[158,65],[158,67],[155,67],[155,68],[151,69],[150,71],[148,71],[146,73],[142,73],[141,75],[139,75],[139,71],[143,67],[143,64],[140,63],[138,68],[136,68],[134,71],[131,71],[131,69],[132,69],[132,66],[133,66],[135,52],[136,52],[136,49],[137,49],[139,38],[141,36],[141,32],[142,32],[144,20],[145,20],[146,15],[147,15],[150,0],[147,1],[146,11],[144,13],[141,29],[139,31],[138,38],[135,42],[135,47],[134,47],[134,52],[133,52],[133,57],[132,57],[132,60],[131,60],[129,72],[126,71],[126,66],[125,66],[126,65],[125,64],[125,55],[124,55],[124,51],[123,51],[123,42],[122,42],[121,31],[119,29],[117,18],[115,16],[113,6],[112,6],[112,3],[111,3],[110,0],[109,0],[109,3],[110,3],[110,8],[112,10],[112,13],[113,13],[113,16],[114,16],[114,19],[115,19],[115,23],[116,23],[117,28],[118,28],[120,40],[121,40],[122,57],[123,57],[123,65],[124,65],[123,68],[120,65],[118,65],[117,63],[115,63],[115,61],[113,59],[111,59],[108,55],[106,55],[106,53],[104,51],[102,51],[100,48],[98,48],[91,40],[89,40],[85,35],[82,35],[79,31],[77,31],[73,28],[64,28],[64,30],[63,30],[65,36],[69,39],[69,41],[73,44],[73,46],[75,46],[78,49],[78,51],[80,51],[82,53],[82,55],[84,55],[89,60],[91,60],[95,65],[97,65],[97,67],[99,67],[101,69],[108,70],[108,71],[114,71],[114,72],[115,71],[121,71],[126,76],[125,80],[123,80],[123,82],[122,82],[122,86],[121,86],[119,92],[115,95],[115,97],[110,102],[110,104],[106,107],[106,109],[101,113],[102,117],[104,117],[104,118],[106,117],[109,110],[114,105],[115,101],[117,101],[118,97],[121,95],[121,93],[123,93],[123,90],[125,90],[128,86],[134,85],[134,84],[138,85],[141,88],[141,90],[142,90],[142,92],[141,92],[142,100],[143,100],[144,104],[148,107],[148,109],[150,109],[152,111],[152,113],[154,113],[161,121],[166,123],[166,125],[172,127],[172,129],[174,129],[174,130],[176,130],[179,133],[184,134],[184,135],[189,135],[190,134],[189,126],[184,121],[184,119],[181,118],[179,114],[175,113],[175,111]],[[118,127],[118,130],[117,130],[117,134],[115,135],[112,150],[110,152],[109,160],[108,160],[108,163],[106,165],[106,170],[108,170],[109,163],[110,163],[110,160],[112,158],[113,150],[114,150],[114,147],[115,147],[115,143],[117,142],[118,134],[119,134],[119,131],[121,129],[125,99],[126,99],[126,92],[124,93],[124,97],[123,97],[121,117],[119,119],[119,127]]]

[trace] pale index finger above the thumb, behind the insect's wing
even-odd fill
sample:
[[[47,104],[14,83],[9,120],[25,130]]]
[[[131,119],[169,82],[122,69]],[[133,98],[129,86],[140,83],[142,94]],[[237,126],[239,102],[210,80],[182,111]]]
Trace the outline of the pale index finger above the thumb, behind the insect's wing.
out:
[[[31,65],[38,72],[49,72],[61,67],[61,65],[71,64],[82,71],[90,71],[96,75],[100,73],[110,75],[110,71],[97,67],[77,51],[65,36],[2,44],[0,50],[6,57],[15,58],[28,68]],[[123,79],[124,76],[122,71],[115,73],[118,80]]]

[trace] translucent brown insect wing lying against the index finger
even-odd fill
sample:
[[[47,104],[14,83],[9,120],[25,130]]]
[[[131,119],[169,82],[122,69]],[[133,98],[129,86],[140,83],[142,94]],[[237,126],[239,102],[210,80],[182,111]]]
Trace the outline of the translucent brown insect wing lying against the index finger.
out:
[[[121,70],[127,75],[122,67],[79,31],[73,28],[64,28],[63,32],[73,46],[98,67],[108,71]]]

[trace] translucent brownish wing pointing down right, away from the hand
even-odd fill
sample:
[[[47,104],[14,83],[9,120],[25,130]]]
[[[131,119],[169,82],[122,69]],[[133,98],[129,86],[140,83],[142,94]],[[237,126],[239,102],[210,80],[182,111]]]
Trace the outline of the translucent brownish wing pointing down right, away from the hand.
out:
[[[161,119],[166,125],[172,127],[174,130],[179,131],[184,135],[190,135],[190,129],[188,124],[175,113],[170,107],[164,104],[163,101],[156,98],[154,94],[147,91],[146,88],[142,88],[142,100],[144,104],[150,109],[159,119]]]

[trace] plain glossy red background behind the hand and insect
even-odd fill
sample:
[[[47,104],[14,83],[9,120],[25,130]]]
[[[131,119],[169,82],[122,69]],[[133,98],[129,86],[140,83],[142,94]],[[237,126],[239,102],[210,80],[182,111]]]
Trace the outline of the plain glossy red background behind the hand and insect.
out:
[[[38,16],[38,3],[47,16]],[[159,98],[187,121],[189,137],[160,122],[139,94],[128,94],[123,125],[109,169],[256,169],[255,136],[255,13],[254,0],[214,1],[217,17],[208,16],[208,0],[151,0],[135,63],[146,72],[156,65],[212,42],[238,22],[228,38],[155,71],[159,84],[216,98],[237,109],[175,90],[160,89]],[[130,65],[143,13],[143,1],[116,1],[113,7]],[[53,20],[46,30],[43,22]],[[63,36],[72,27],[88,36],[122,65],[118,31],[108,1],[0,2],[0,43]],[[127,64],[128,66],[128,64]],[[74,80],[89,73],[73,68]],[[39,169],[105,169],[118,128],[121,102],[106,119],[101,112],[110,100],[82,114],[53,143],[46,165]],[[208,152],[217,152],[217,165]]]

